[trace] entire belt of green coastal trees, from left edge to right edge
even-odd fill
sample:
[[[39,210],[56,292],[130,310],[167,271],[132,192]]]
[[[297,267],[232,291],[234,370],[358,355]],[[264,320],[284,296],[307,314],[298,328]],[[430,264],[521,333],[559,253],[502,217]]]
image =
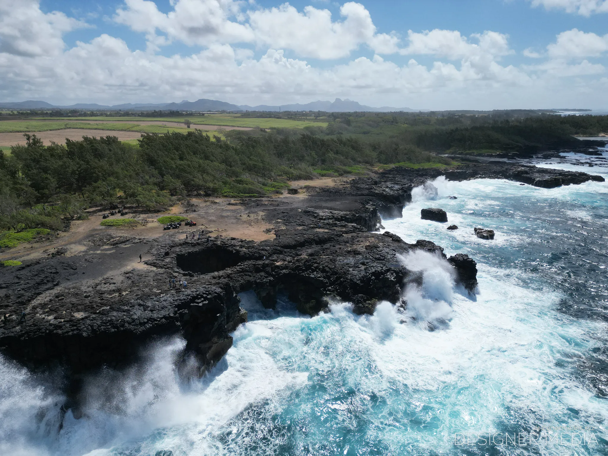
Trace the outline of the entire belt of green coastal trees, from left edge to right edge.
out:
[[[137,143],[106,136],[43,145],[26,134],[26,145],[0,151],[0,230],[61,229],[66,219],[85,217],[90,206],[164,210],[179,196],[256,197],[282,193],[294,179],[395,164],[455,165],[454,154],[530,154],[575,146],[575,135],[608,131],[608,116],[536,111],[204,116],[206,122],[257,126],[220,137],[196,129],[203,116],[190,117],[190,130],[153,131]],[[282,128],[294,123],[300,128]]]

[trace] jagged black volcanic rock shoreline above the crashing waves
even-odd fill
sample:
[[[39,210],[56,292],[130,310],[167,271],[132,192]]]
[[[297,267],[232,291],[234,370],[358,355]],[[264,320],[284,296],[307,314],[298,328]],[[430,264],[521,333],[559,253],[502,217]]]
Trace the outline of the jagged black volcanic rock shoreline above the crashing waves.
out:
[[[274,308],[283,293],[311,315],[333,298],[353,303],[359,314],[373,313],[381,300],[406,305],[400,302],[402,290],[420,274],[410,271],[401,255],[426,250],[446,258],[443,248],[374,231],[381,216],[401,216],[414,187],[441,175],[455,181],[510,179],[542,188],[603,181],[586,173],[502,162],[449,170],[393,168],[295,202],[242,201],[251,209],[264,207],[264,218],[275,227],[274,240],[207,235],[183,240],[169,232],[149,241],[95,234],[89,243],[111,243],[117,258],[147,250],[146,267],[121,269],[113,263],[117,270],[109,274],[101,255],[91,254],[57,255],[3,270],[1,311],[9,318],[0,325],[0,349],[30,368],[61,367],[77,378],[103,365],[120,367],[151,340],[180,334],[185,354],[198,359],[200,375],[226,354],[230,333],[246,322],[240,292],[255,291],[266,308]],[[473,292],[474,259],[461,254],[446,259],[457,281]],[[173,277],[187,280],[187,288],[171,289]]]

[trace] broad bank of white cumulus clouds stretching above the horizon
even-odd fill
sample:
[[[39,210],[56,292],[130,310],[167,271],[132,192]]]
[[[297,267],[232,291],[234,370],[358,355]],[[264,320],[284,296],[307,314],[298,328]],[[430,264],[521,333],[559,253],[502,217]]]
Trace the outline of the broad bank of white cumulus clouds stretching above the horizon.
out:
[[[607,52],[607,37],[577,29],[559,34],[544,55],[526,50],[524,55],[539,58],[536,66],[514,66],[501,63],[513,54],[503,33],[410,31],[399,48],[398,36],[379,33],[370,13],[354,2],[342,5],[339,17],[313,7],[264,9],[233,0],[171,5],[163,13],[154,2],[126,0],[117,10],[116,21],[147,36],[147,50],[133,50],[107,33],[66,49],[63,35],[86,24],[43,13],[35,0],[0,0],[0,100],[114,104],[215,98],[275,105],[348,97],[372,106],[466,109],[532,108],[560,100],[568,105],[556,97],[572,95],[573,103],[608,105],[608,79],[595,76],[605,68],[593,60]],[[171,57],[156,52],[171,41],[198,48]],[[357,55],[359,48],[374,50],[374,57]],[[426,63],[390,61],[387,55],[396,52]],[[289,58],[294,54],[299,57]],[[349,55],[350,61],[323,67],[306,61]]]

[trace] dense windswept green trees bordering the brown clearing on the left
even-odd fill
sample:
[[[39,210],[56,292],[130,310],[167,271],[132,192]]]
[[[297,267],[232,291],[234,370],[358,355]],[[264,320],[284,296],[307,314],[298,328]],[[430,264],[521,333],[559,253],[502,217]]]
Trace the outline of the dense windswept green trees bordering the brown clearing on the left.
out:
[[[147,134],[139,147],[112,136],[44,146],[26,134],[26,145],[0,155],[0,229],[58,229],[91,205],[154,211],[180,195],[268,195],[289,187],[289,179],[347,173],[354,165],[451,162],[413,147],[294,131],[226,134]]]

